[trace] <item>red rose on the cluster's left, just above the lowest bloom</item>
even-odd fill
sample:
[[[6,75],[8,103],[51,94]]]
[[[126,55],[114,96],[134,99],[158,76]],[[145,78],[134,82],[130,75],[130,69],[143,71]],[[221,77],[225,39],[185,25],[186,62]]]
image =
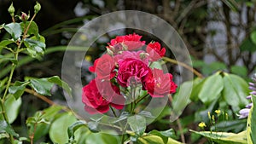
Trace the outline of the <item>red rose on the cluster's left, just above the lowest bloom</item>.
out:
[[[115,76],[114,60],[110,55],[102,55],[99,59],[95,60],[94,66],[89,67],[90,72],[96,72],[98,78],[111,79]]]

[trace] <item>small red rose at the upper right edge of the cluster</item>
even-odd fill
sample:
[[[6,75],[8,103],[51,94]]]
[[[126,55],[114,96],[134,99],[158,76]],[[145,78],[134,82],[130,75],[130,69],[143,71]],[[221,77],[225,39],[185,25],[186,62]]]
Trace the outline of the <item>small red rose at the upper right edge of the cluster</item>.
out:
[[[152,61],[159,60],[161,57],[166,55],[166,49],[161,49],[161,45],[158,42],[148,43],[146,51]]]

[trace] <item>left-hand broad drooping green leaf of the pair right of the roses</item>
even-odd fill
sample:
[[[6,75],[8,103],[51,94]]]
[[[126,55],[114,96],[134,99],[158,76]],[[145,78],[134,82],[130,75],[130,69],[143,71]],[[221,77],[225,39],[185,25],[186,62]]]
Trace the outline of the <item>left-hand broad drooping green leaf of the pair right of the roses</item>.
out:
[[[217,72],[206,79],[198,97],[203,103],[209,105],[212,101],[218,99],[223,88],[223,79],[220,73]]]

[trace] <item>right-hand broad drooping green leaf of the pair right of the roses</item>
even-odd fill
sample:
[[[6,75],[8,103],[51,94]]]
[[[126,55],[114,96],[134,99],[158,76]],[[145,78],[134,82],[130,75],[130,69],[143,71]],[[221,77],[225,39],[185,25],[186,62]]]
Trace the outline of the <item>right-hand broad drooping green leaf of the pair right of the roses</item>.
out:
[[[233,111],[239,111],[241,107],[245,107],[248,103],[248,84],[242,78],[224,73],[224,100],[233,108]]]

